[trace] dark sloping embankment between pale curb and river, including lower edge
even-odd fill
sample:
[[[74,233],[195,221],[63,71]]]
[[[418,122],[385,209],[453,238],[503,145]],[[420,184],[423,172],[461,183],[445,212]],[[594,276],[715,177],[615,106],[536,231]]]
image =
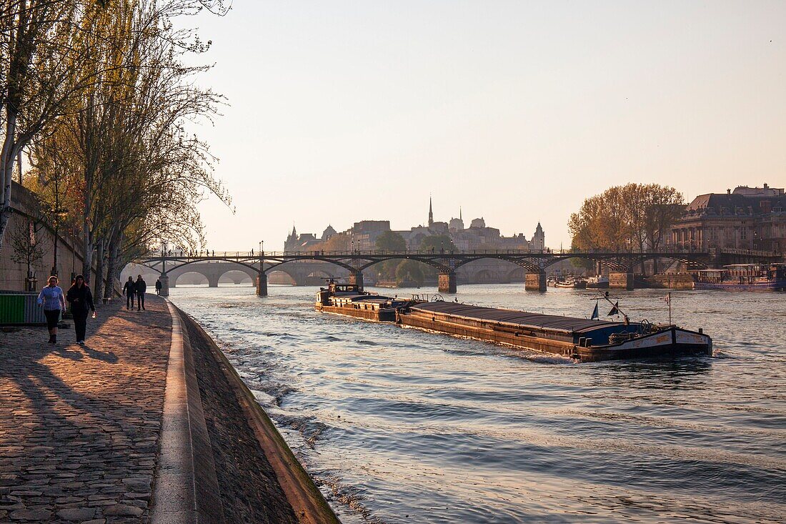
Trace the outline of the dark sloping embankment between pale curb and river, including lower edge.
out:
[[[339,522],[215,341],[173,311],[185,360],[193,360],[226,522]]]

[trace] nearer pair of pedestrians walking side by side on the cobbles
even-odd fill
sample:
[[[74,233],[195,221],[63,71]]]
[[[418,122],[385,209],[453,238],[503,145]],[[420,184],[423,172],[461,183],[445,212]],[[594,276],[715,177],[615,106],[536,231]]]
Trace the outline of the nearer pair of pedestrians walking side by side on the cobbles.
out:
[[[57,344],[57,323],[60,321],[61,312],[65,310],[65,301],[68,301],[71,304],[71,314],[74,317],[76,343],[85,345],[87,315],[90,310],[93,311],[93,318],[96,318],[93,293],[90,293],[90,287],[85,285],[85,278],[82,275],[76,275],[74,284],[65,295],[61,287],[57,286],[57,282],[56,276],[50,276],[48,285],[39,293],[39,305],[44,308],[46,327],[50,334],[49,342]]]

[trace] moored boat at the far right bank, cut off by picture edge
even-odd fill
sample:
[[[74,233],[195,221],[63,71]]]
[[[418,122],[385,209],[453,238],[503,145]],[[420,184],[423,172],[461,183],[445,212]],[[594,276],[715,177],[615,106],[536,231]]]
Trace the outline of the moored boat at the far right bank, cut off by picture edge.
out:
[[[786,264],[732,264],[696,271],[694,290],[786,291]]]

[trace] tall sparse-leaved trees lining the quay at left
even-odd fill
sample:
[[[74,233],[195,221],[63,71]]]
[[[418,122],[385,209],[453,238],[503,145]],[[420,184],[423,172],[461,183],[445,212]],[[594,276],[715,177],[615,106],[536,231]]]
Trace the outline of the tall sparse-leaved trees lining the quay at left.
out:
[[[210,42],[178,29],[221,0],[7,0],[0,13],[0,247],[22,151],[24,184],[46,216],[83,242],[83,274],[109,282],[167,239],[204,244],[197,203],[230,196],[208,145],[186,124],[210,120],[222,97],[186,65]],[[107,296],[104,278],[95,295]]]

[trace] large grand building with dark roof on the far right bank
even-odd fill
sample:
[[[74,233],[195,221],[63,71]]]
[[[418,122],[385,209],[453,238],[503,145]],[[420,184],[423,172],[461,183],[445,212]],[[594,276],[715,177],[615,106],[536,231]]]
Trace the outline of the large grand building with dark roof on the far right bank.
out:
[[[786,195],[783,188],[738,186],[702,194],[685,207],[671,228],[675,249],[786,250]]]

